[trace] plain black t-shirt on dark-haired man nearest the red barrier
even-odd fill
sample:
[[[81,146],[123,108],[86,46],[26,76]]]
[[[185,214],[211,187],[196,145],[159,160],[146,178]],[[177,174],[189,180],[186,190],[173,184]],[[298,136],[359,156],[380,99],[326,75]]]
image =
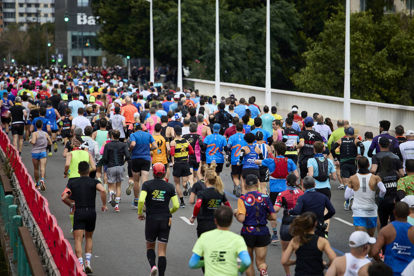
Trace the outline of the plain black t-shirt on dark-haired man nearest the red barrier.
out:
[[[80,207],[95,209],[96,185],[100,183],[89,176],[82,176],[67,183],[67,188],[72,192],[71,198],[76,202],[75,216],[76,210]]]

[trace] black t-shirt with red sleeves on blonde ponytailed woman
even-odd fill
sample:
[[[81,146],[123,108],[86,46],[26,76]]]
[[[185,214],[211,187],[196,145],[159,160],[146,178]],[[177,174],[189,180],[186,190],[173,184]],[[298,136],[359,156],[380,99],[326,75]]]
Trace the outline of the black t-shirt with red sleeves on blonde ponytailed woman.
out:
[[[216,192],[214,187],[198,191],[197,199],[202,200],[199,221],[214,221],[214,210],[219,208],[224,202],[228,202],[226,195]]]

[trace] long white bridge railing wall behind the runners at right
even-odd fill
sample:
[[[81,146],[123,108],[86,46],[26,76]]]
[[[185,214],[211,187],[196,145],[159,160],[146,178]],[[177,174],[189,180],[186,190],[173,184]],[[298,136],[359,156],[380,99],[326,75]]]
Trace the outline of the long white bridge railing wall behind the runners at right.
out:
[[[190,78],[184,78],[184,80],[187,86],[198,89],[201,95],[214,94],[214,81]],[[334,125],[335,120],[344,116],[344,99],[339,97],[272,89],[272,102],[266,103],[265,87],[220,82],[221,96],[228,97],[230,89],[233,89],[238,99],[245,98],[247,101],[250,96],[255,96],[256,104],[259,106],[276,106],[281,110],[290,110],[291,106],[297,105],[299,110],[306,110],[310,115],[315,112],[321,113],[324,118],[330,117]],[[378,127],[380,120],[389,120],[390,130],[397,125],[404,126],[406,131],[412,130],[414,128],[414,106],[351,99],[352,124]]]

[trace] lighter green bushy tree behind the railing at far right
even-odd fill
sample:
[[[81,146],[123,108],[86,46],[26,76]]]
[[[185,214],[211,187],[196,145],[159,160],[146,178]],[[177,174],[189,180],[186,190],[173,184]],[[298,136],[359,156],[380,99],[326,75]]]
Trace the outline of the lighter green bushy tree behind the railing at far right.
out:
[[[293,76],[300,91],[343,96],[345,14],[325,24],[319,41],[304,53],[306,67]],[[371,12],[351,14],[351,98],[413,105],[414,22],[395,13],[374,21]]]

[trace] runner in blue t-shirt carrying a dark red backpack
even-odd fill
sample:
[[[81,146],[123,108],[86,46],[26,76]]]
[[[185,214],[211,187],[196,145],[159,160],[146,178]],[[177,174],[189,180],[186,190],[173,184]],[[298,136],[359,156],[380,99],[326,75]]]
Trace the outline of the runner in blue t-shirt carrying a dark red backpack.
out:
[[[289,173],[293,173],[296,178],[299,177],[299,174],[294,161],[283,156],[283,154],[286,152],[286,145],[281,141],[275,141],[272,145],[276,157],[273,159],[267,158],[263,160],[255,160],[255,163],[257,165],[262,165],[269,168],[269,197],[270,201],[274,205],[277,197],[279,196],[279,193],[286,190],[286,177],[289,175]],[[279,242],[279,238],[277,237],[277,221],[270,221],[270,224],[272,225],[273,230],[271,242]]]

